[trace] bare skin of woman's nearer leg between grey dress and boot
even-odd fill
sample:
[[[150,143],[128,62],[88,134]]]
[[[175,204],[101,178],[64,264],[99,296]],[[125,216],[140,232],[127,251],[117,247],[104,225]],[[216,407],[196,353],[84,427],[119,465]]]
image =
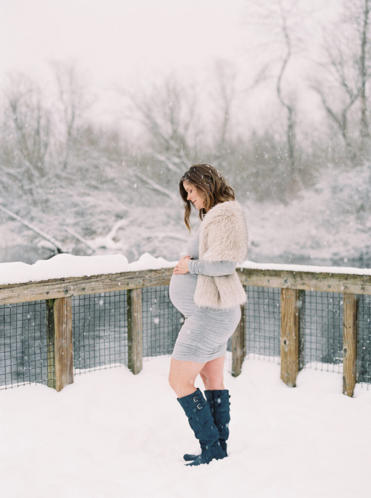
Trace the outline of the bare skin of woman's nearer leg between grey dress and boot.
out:
[[[205,363],[183,362],[172,358],[169,384],[179,398],[187,396],[196,390],[194,381],[204,366]]]

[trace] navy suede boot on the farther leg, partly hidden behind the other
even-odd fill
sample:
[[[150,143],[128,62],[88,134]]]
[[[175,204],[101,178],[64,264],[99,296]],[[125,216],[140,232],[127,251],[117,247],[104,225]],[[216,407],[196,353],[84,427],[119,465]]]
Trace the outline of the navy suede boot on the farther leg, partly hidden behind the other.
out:
[[[210,407],[211,414],[213,416],[215,425],[219,431],[219,443],[224,452],[224,456],[227,457],[227,442],[229,437],[229,391],[228,389],[223,390],[206,390],[205,396],[207,403]],[[190,462],[195,460],[199,455],[191,455],[186,453],[183,458],[185,461]]]

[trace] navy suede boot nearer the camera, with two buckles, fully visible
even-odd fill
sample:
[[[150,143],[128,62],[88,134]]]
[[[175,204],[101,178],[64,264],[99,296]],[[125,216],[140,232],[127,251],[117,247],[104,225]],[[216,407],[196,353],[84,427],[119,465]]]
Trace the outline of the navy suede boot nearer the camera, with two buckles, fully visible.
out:
[[[219,431],[201,391],[197,388],[192,394],[178,398],[178,401],[201,446],[201,454],[193,462],[186,465],[208,464],[213,459],[224,458],[225,455],[219,443]]]

